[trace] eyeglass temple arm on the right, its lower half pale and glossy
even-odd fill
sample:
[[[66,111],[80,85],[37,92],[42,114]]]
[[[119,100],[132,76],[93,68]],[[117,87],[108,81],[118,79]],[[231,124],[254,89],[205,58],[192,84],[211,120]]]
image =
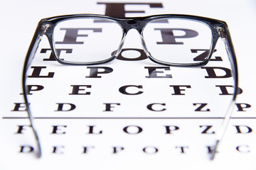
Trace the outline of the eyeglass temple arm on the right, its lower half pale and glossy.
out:
[[[238,94],[238,63],[237,63],[237,60],[236,60],[236,57],[235,57],[235,50],[234,50],[234,47],[233,47],[233,42],[231,40],[231,36],[230,36],[228,26],[225,24],[224,28],[219,30],[219,33],[220,33],[220,38],[225,43],[225,49],[228,53],[228,58],[230,60],[232,75],[233,75],[233,79],[235,81],[235,84],[234,84],[233,98],[232,98],[232,101],[230,102],[230,105],[228,106],[228,111],[225,114],[225,118],[223,120],[223,124],[220,128],[220,131],[218,132],[218,134],[216,136],[216,143],[215,143],[215,146],[213,148],[213,152],[211,153],[210,159],[214,159],[215,154],[217,152],[218,144],[222,140],[222,138],[224,136],[224,133],[225,133],[225,130],[228,127],[228,122],[231,118],[231,115],[233,113],[233,108],[235,106],[235,98],[237,97],[237,94]]]

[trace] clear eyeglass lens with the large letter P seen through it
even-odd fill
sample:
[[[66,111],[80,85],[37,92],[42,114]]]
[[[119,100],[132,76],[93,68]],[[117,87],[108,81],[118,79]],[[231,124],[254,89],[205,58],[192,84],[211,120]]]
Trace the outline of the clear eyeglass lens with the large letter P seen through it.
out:
[[[209,57],[212,32],[205,23],[184,18],[149,22],[143,37],[149,55],[165,64],[198,64]],[[203,54],[201,57],[197,57]]]

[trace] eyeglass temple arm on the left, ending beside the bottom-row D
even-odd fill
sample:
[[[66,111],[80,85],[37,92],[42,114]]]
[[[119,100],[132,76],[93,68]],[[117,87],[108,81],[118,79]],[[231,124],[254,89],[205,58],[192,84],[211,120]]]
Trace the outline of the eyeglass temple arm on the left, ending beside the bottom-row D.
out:
[[[43,37],[43,33],[45,33],[45,31],[46,31],[46,28],[43,28],[43,21],[40,21],[38,23],[36,31],[33,35],[31,45],[28,48],[28,52],[27,52],[27,55],[26,55],[26,60],[25,60],[24,67],[23,67],[23,74],[22,74],[23,98],[24,98],[24,101],[25,101],[25,104],[26,104],[26,111],[28,113],[28,118],[29,118],[29,121],[31,123],[31,128],[33,130],[33,135],[36,138],[36,145],[37,145],[37,148],[38,148],[38,152],[36,153],[36,155],[37,155],[38,158],[40,158],[41,155],[42,155],[41,144],[40,144],[40,140],[39,140],[39,137],[38,137],[38,132],[36,131],[35,125],[33,123],[33,115],[31,113],[31,109],[30,109],[29,103],[28,103],[28,96],[27,96],[28,89],[27,89],[27,86],[26,86],[26,77],[27,77],[26,72],[28,70],[28,67],[30,67],[30,65],[31,65],[33,57],[35,57],[36,50],[38,49],[39,42],[41,41],[41,39]]]

